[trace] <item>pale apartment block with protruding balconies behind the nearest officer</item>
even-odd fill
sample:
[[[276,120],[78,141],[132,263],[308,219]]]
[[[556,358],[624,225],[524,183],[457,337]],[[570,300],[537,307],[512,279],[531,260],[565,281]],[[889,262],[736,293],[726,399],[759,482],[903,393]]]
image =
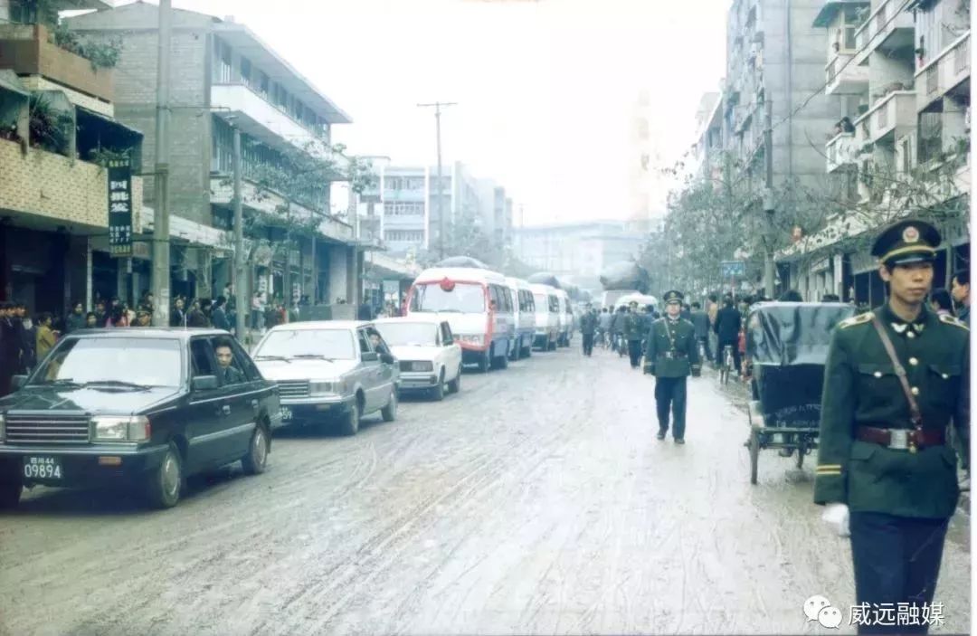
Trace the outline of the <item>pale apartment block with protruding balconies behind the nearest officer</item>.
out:
[[[826,172],[850,204],[779,260],[808,299],[836,293],[877,305],[884,289],[872,231],[920,210],[938,225],[936,286],[968,263],[970,16],[952,0],[825,2],[825,92],[842,98]]]

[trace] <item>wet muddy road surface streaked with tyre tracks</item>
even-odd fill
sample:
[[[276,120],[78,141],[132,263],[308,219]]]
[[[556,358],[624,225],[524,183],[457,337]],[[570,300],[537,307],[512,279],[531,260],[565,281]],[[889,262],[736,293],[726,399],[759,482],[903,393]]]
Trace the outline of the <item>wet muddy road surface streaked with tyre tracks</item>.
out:
[[[813,464],[763,451],[707,371],[687,444],[655,439],[654,381],[596,351],[468,373],[355,438],[283,432],[266,474],[191,480],[164,512],[35,488],[0,515],[0,633],[854,633],[851,556]],[[937,599],[970,622],[969,520]]]

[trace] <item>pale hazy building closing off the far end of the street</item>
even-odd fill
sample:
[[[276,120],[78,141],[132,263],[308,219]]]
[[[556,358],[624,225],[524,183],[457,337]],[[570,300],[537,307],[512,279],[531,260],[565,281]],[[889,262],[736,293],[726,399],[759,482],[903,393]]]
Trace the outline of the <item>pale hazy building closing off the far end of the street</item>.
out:
[[[598,276],[604,268],[640,255],[647,236],[629,232],[626,225],[597,221],[519,228],[516,256],[541,272],[573,276],[582,286],[599,289]]]

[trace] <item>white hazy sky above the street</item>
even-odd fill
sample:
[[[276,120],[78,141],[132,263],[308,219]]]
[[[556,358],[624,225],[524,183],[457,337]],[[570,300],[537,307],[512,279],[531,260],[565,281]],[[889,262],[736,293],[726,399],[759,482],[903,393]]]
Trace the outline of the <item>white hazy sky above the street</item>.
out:
[[[127,4],[126,0],[116,2]],[[641,88],[665,163],[693,143],[725,64],[729,0],[173,0],[234,16],[354,119],[333,141],[492,178],[526,225],[625,218]],[[661,192],[663,201],[664,192]]]

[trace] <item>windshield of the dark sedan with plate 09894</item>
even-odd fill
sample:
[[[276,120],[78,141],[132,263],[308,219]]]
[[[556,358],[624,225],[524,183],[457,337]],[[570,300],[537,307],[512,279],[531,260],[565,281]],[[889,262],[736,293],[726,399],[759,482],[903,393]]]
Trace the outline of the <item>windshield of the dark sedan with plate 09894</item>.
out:
[[[37,369],[30,384],[179,387],[180,342],[164,338],[69,338]]]

